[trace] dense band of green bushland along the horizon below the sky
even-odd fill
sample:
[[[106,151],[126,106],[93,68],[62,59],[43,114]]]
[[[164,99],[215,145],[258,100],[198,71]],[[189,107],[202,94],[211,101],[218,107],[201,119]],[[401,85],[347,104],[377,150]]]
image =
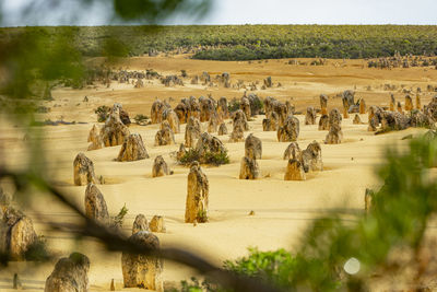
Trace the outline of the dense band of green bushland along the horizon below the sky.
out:
[[[8,39],[24,28],[1,28]],[[194,59],[377,58],[437,55],[435,25],[200,25],[32,27],[35,34],[74,35],[83,56],[157,52],[192,54]],[[117,55],[117,54],[116,54]]]

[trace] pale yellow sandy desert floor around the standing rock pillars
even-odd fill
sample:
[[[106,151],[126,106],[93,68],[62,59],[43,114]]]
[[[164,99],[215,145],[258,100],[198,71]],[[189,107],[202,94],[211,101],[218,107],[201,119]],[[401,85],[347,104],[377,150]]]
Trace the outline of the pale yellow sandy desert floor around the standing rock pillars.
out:
[[[92,60],[98,62],[101,60]],[[153,68],[161,74],[179,73],[187,70],[189,75],[208,71],[211,75],[228,72],[232,82],[260,81],[271,75],[274,83],[281,82],[281,87],[259,90],[260,97],[273,96],[281,101],[290,100],[296,109],[304,112],[307,106],[319,107],[319,95],[329,94],[328,107],[341,106],[341,98],[335,94],[344,90],[356,90],[356,97],[364,97],[366,104],[387,106],[389,92],[383,91],[386,83],[397,84],[399,87],[424,91],[422,104],[429,102],[432,93],[425,92],[427,84],[437,83],[437,70],[423,68],[378,70],[363,68],[364,60],[346,61],[329,60],[327,66],[291,66],[286,60],[270,60],[269,62],[218,62],[198,61],[182,57],[142,57],[130,58],[118,65],[129,70],[145,70]],[[334,63],[340,67],[334,67]],[[117,68],[118,68],[117,67]],[[241,97],[244,90],[224,87],[204,87],[189,84],[186,86],[165,87],[158,81],[145,82],[143,89],[133,89],[129,84],[113,83],[109,89],[98,86],[84,90],[56,89],[52,94],[55,101],[45,105],[51,112],[38,115],[44,120],[63,118],[67,121],[83,121],[86,124],[71,126],[37,127],[44,130],[38,143],[45,148],[47,157],[34,162],[42,163],[46,168],[47,177],[55,185],[66,191],[81,207],[83,207],[85,186],[73,185],[73,160],[79,152],[84,152],[95,165],[96,175],[104,176],[107,184],[99,185],[105,196],[111,215],[116,214],[126,203],[129,209],[123,229],[130,233],[133,219],[143,213],[147,220],[160,214],[165,219],[167,233],[156,234],[163,246],[181,244],[198,254],[206,255],[217,265],[225,259],[234,259],[247,255],[249,246],[261,250],[280,247],[293,250],[296,248],[302,232],[312,219],[326,212],[340,212],[344,220],[354,220],[351,213],[364,209],[364,192],[366,187],[376,187],[379,182],[374,176],[374,168],[381,162],[385,149],[389,144],[403,144],[401,139],[410,133],[417,135],[424,130],[408,129],[382,136],[375,136],[367,131],[367,125],[353,125],[344,119],[342,127],[344,141],[342,144],[327,145],[322,141],[327,131],[319,131],[317,126],[305,126],[304,115],[300,120],[298,143],[305,149],[316,140],[322,145],[324,170],[312,173],[305,182],[284,182],[283,176],[286,161],[282,159],[288,143],[277,142],[276,132],[263,132],[258,116],[249,122],[250,131],[245,137],[255,133],[262,140],[262,160],[259,161],[262,178],[258,180],[238,179],[239,163],[244,156],[244,142],[229,143],[227,136],[218,137],[228,149],[231,164],[220,167],[204,166],[203,171],[210,180],[210,222],[205,224],[184,223],[185,201],[187,195],[187,175],[189,170],[177,165],[172,153],[178,150],[184,141],[185,125],[181,133],[176,135],[175,145],[154,147],[154,136],[158,125],[131,125],[130,132],[142,136],[150,159],[137,162],[116,162],[120,147],[105,148],[96,151],[86,151],[87,135],[96,122],[94,108],[99,105],[121,103],[131,118],[137,114],[150,115],[151,105],[156,97],[167,100],[175,106],[180,98],[193,95],[212,94],[227,100]],[[371,90],[368,91],[367,86]],[[393,92],[397,100],[404,102],[404,94]],[[87,96],[90,102],[83,102]],[[169,98],[172,97],[172,98]],[[55,107],[55,105],[57,105]],[[361,116],[367,121],[367,114]],[[229,120],[226,120],[228,124]],[[10,122],[0,124],[0,153],[5,165],[12,168],[25,167],[28,163],[29,151],[23,141],[24,132]],[[227,125],[231,128],[231,125]],[[36,138],[35,138],[36,139]],[[163,155],[174,175],[152,178],[152,165],[156,155]],[[8,186],[5,186],[8,189]],[[45,235],[49,246],[67,256],[71,250],[87,255],[91,259],[90,283],[91,291],[107,291],[111,279],[116,288],[122,289],[121,255],[106,254],[93,240],[79,242],[72,234],[54,232],[45,222],[74,222],[72,212],[44,195],[32,196],[29,205],[34,208],[26,213],[32,217],[38,234]],[[249,215],[253,210],[255,215]],[[39,215],[37,215],[39,214]],[[46,278],[52,271],[55,262],[35,267],[25,262],[13,262],[8,271],[0,271],[0,290],[9,291],[12,287],[12,275],[19,272],[26,291],[44,291]],[[186,279],[192,271],[176,264],[165,262],[165,285],[170,287],[180,279]],[[12,291],[12,290],[11,290]],[[123,290],[126,291],[126,290]]]

